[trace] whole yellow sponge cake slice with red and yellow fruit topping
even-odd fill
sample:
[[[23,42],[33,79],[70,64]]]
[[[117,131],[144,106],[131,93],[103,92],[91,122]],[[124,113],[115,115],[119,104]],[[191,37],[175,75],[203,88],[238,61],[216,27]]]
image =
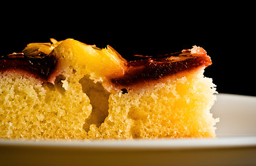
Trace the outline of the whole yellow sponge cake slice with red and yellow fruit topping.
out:
[[[201,47],[123,59],[74,39],[0,59],[0,138],[214,138]]]

